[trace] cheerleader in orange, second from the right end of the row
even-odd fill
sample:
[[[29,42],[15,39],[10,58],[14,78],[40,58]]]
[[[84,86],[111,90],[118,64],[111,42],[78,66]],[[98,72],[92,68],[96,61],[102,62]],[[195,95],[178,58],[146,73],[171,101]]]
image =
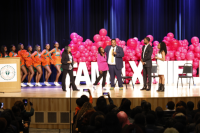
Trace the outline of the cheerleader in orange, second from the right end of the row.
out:
[[[51,54],[49,53],[49,49],[50,49],[50,45],[49,44],[46,44],[45,46],[46,49],[44,49],[42,51],[42,54],[41,54],[41,57],[42,57],[42,66],[44,67],[45,69],[45,82],[44,84],[46,86],[51,86],[49,83],[48,83],[48,80],[49,80],[49,77],[51,75],[51,68],[50,68],[50,65],[51,65]]]

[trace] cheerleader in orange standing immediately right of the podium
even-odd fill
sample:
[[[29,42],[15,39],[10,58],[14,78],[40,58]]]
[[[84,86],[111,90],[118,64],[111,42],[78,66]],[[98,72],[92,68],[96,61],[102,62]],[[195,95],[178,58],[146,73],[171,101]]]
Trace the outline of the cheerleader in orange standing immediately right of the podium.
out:
[[[25,87],[26,85],[23,84],[24,79],[27,76],[27,70],[25,67],[25,60],[24,60],[24,54],[27,51],[24,50],[24,45],[22,43],[18,44],[18,56],[20,57],[20,66],[21,66],[21,86]]]

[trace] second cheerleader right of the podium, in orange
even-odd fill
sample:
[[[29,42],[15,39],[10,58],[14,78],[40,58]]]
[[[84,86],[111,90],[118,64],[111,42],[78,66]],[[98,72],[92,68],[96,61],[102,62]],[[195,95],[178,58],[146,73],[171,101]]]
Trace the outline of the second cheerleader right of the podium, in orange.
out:
[[[35,74],[34,72],[34,69],[33,69],[33,60],[31,58],[31,54],[32,54],[32,46],[28,45],[27,47],[27,50],[28,50],[28,56],[25,58],[25,64],[26,64],[26,67],[28,68],[28,83],[27,85],[30,86],[30,87],[33,87],[34,85],[31,84],[31,80]]]

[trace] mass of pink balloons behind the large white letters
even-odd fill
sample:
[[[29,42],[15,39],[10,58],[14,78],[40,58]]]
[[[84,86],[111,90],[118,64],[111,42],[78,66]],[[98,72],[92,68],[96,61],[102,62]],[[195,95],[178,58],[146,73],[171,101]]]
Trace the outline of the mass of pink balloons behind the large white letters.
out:
[[[86,62],[87,69],[91,74],[91,62],[97,61],[98,48],[105,48],[108,45],[111,45],[110,37],[106,36],[107,30],[101,29],[99,34],[94,35],[92,42],[90,39],[87,39],[83,42],[83,37],[77,33],[71,33],[70,38],[71,42],[69,44],[71,52],[75,62]],[[152,59],[155,60],[155,55],[159,52],[158,41],[153,41],[154,38],[152,35],[147,35],[150,38],[150,45],[153,47]],[[188,41],[177,40],[174,38],[173,33],[168,33],[162,40],[166,43],[167,46],[167,55],[165,57],[166,61],[180,61],[187,60],[193,61],[193,76],[197,76],[197,68],[199,67],[198,61],[200,60],[200,45],[199,38],[192,37],[191,45],[188,46]],[[141,60],[142,47],[144,45],[144,40],[141,42],[137,37],[128,39],[127,43],[124,40],[116,38],[116,43],[118,46],[122,47],[124,50],[123,61],[125,61],[125,75],[133,76],[134,71],[132,70],[129,61],[135,61],[138,66],[139,61]],[[76,70],[76,69],[75,69]],[[125,80],[126,83],[130,79]],[[139,80],[136,81],[136,84],[140,83]],[[154,79],[153,83],[156,84],[157,81]]]

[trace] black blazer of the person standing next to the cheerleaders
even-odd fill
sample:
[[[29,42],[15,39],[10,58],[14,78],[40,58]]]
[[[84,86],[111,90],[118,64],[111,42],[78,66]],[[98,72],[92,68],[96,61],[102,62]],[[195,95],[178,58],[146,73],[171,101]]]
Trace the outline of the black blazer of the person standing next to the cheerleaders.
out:
[[[71,54],[71,53],[70,53]],[[71,54],[71,56],[72,56],[72,54]],[[67,69],[67,70],[69,70],[69,63],[67,63],[68,61],[70,61],[69,60],[69,55],[68,55],[68,53],[65,53],[65,52],[63,52],[62,53],[62,59],[61,59],[61,63],[62,63],[62,66],[61,66],[61,68],[62,69]],[[73,57],[72,57],[72,63],[71,63],[71,65],[72,65],[72,69],[73,69]]]

